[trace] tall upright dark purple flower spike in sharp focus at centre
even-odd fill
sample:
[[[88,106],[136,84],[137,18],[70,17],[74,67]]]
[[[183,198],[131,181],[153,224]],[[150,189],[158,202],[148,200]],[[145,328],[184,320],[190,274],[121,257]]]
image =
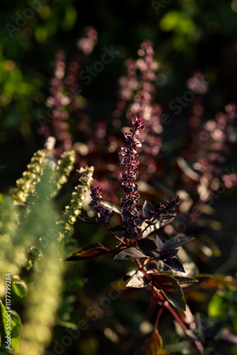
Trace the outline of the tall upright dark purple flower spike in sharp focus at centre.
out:
[[[138,155],[137,148],[141,146],[141,143],[135,135],[140,134],[143,127],[142,119],[136,118],[133,120],[132,134],[124,134],[127,146],[121,147],[121,155],[123,155],[121,166],[126,168],[126,171],[121,173],[121,190],[126,193],[126,196],[121,198],[122,224],[125,226],[123,236],[125,239],[136,239],[140,232],[138,229],[140,209],[136,207],[140,195],[138,194],[138,184],[134,180],[138,177],[136,168],[138,168],[139,162],[136,160],[136,156]]]

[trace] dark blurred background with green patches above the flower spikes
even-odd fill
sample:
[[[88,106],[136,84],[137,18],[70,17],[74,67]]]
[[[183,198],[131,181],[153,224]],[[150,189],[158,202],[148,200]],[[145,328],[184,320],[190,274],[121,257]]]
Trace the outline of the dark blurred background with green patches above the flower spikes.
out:
[[[1,170],[1,190],[14,184],[33,153],[42,148],[36,116],[45,115],[47,109],[55,53],[65,50],[69,63],[86,26],[97,28],[98,43],[84,66],[98,60],[104,46],[120,51],[116,60],[83,87],[93,121],[111,120],[118,79],[125,73],[124,60],[136,58],[145,39],[153,41],[155,59],[166,76],[156,98],[165,112],[170,101],[187,89],[186,80],[194,70],[201,70],[209,82],[206,119],[236,102],[236,1],[180,0],[164,8],[154,6],[142,0],[48,1],[11,38],[6,23],[16,26],[18,14],[23,16],[30,6],[26,1],[1,3],[0,164],[6,167]],[[74,139],[79,141],[79,136]]]

